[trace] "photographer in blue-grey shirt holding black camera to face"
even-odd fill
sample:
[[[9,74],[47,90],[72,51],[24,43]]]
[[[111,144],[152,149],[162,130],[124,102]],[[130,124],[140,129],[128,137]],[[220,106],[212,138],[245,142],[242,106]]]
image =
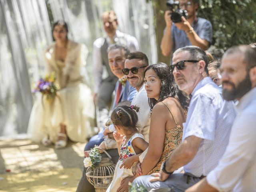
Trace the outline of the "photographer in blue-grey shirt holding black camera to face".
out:
[[[212,42],[212,24],[196,17],[199,0],[168,0],[166,5],[169,10],[164,15],[166,28],[160,46],[162,54],[169,56],[188,45],[206,50]]]

